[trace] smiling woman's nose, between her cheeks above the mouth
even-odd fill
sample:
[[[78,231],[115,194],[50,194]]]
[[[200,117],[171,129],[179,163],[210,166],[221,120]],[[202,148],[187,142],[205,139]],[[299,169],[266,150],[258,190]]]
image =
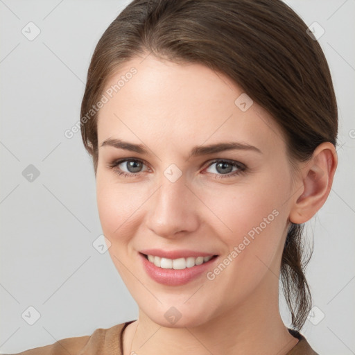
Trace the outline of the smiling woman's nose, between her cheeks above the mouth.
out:
[[[199,225],[198,202],[184,176],[175,182],[163,176],[159,189],[150,198],[147,227],[168,239],[194,232]]]

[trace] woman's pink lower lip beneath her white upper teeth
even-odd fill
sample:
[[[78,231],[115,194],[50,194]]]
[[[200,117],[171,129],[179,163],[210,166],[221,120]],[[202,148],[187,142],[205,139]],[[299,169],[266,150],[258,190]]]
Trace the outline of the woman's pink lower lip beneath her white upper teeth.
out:
[[[213,257],[209,259],[206,263],[201,265],[195,265],[192,268],[184,268],[182,270],[175,269],[163,269],[158,268],[146,259],[146,257],[139,253],[139,257],[143,262],[144,269],[147,274],[159,284],[164,284],[168,286],[180,286],[187,284],[193,279],[199,277],[202,273],[207,272],[211,268],[211,264],[216,261],[218,257]]]

